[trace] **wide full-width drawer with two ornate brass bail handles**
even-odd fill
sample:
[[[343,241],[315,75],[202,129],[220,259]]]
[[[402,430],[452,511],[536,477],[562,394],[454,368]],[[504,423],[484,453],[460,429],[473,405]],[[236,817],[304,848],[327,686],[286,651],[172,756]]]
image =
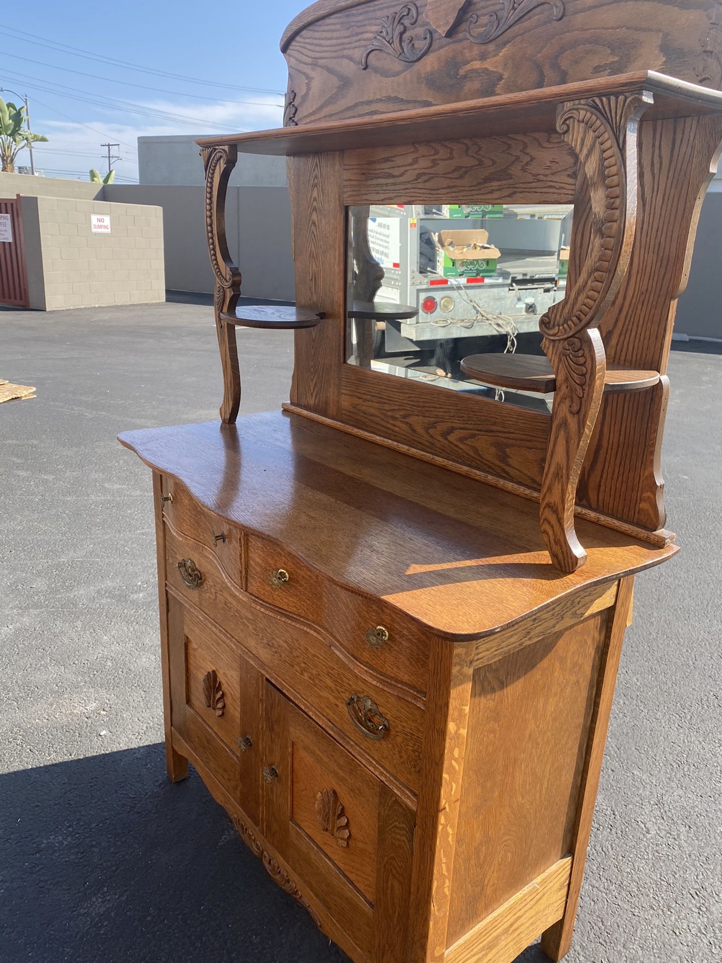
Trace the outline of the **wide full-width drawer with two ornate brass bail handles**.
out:
[[[234,590],[210,550],[168,528],[166,555],[168,586],[237,638],[271,682],[346,736],[369,765],[418,793],[424,730],[419,705],[345,662],[326,637]]]

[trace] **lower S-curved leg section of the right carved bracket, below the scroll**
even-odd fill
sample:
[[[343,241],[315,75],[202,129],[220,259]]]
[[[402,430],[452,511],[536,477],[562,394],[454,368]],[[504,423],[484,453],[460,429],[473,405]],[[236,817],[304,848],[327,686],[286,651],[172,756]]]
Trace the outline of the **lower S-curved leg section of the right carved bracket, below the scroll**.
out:
[[[596,328],[564,341],[545,339],[543,347],[554,367],[556,391],[539,523],[554,565],[562,572],[574,572],[586,561],[574,527],[574,505],[605,390],[605,348]]]

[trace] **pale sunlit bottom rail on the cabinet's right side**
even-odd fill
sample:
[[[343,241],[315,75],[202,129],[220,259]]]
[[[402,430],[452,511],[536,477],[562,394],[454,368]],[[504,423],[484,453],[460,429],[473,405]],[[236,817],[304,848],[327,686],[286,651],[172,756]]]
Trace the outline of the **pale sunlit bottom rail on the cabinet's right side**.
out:
[[[516,959],[549,921],[555,923],[563,913],[571,869],[572,860],[567,856],[540,873],[450,947],[445,963],[509,963]]]

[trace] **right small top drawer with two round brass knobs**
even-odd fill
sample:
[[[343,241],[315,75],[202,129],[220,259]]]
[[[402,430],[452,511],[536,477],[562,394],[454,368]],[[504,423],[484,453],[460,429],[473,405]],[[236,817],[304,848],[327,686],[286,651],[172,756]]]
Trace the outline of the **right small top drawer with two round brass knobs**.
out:
[[[313,622],[354,659],[425,693],[429,636],[421,626],[382,600],[336,586],[270,540],[248,535],[247,545],[251,594]]]

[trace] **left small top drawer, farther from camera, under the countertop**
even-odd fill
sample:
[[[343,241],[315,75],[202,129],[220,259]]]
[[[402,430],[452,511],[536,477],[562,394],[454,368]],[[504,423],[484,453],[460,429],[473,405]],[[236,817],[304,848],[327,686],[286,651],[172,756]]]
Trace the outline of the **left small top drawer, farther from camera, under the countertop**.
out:
[[[241,529],[199,505],[184,484],[175,479],[161,480],[163,514],[174,531],[193,538],[213,552],[228,577],[240,586]]]

